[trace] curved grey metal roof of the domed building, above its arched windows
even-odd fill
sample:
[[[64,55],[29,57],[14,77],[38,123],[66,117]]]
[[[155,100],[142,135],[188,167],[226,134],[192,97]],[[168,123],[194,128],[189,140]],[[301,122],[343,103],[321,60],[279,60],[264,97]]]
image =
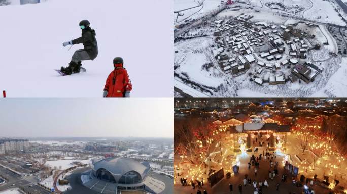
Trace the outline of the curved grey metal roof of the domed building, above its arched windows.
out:
[[[137,172],[141,175],[141,179],[143,180],[150,170],[149,165],[147,166],[133,159],[123,157],[107,158],[92,164],[92,169],[94,171],[100,168],[108,170],[117,182],[123,174],[129,171]]]

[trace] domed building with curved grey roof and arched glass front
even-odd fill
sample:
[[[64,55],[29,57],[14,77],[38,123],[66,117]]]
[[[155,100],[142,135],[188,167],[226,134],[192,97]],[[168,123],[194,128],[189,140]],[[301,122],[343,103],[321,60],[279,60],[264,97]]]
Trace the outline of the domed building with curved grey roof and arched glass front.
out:
[[[149,172],[149,162],[130,158],[107,158],[91,164],[91,176],[116,184],[118,190],[144,189],[143,180]]]

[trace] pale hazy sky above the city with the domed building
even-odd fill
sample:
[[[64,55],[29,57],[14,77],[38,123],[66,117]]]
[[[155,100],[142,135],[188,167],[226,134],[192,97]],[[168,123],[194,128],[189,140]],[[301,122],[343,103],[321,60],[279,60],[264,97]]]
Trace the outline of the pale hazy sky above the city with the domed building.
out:
[[[173,137],[172,104],[172,98],[3,98],[0,137]]]

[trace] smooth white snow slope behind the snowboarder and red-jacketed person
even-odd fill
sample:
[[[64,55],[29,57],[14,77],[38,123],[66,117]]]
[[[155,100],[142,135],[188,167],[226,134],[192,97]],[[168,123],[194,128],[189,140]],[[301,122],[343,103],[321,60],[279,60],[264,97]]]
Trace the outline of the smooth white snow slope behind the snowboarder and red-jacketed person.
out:
[[[0,7],[0,90],[10,97],[101,97],[112,60],[121,56],[130,96],[172,96],[170,1],[47,0]],[[99,55],[86,73],[61,77],[74,51],[62,42],[81,36],[79,22],[96,31]],[[154,89],[160,88],[160,89]]]

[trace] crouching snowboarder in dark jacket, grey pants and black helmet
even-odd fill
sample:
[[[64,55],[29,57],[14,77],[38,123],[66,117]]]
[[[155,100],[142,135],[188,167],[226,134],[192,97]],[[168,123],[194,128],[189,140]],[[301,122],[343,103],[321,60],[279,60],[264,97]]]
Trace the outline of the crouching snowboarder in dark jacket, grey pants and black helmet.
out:
[[[72,73],[79,73],[81,70],[82,60],[94,60],[97,56],[97,42],[95,38],[95,30],[90,28],[90,23],[88,20],[82,20],[80,22],[80,27],[82,29],[82,36],[63,43],[63,46],[80,44],[83,43],[84,49],[79,49],[75,51],[72,56],[71,62],[68,67],[61,67],[61,72],[70,75]]]

